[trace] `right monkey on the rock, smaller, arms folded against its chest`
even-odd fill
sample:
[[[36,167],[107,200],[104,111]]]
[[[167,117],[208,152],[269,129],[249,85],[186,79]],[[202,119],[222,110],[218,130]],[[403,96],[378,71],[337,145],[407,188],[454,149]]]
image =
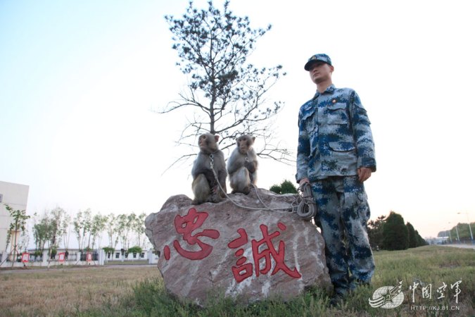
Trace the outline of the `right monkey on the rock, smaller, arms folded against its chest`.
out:
[[[229,184],[234,194],[242,192],[248,194],[251,191],[251,184],[255,185],[258,174],[258,156],[253,149],[255,137],[241,135],[236,139],[237,147],[227,161],[227,173],[229,173]]]

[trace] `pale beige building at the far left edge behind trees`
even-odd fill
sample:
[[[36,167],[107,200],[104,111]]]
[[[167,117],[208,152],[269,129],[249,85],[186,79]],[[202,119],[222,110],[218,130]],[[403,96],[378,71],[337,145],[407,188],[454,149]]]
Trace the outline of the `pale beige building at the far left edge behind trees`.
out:
[[[0,254],[2,255],[9,254],[13,251],[6,249],[6,237],[8,235],[12,218],[8,210],[6,210],[5,204],[11,206],[13,210],[26,210],[29,190],[30,187],[27,185],[0,181]],[[19,238],[21,232],[12,232],[12,239],[14,234]],[[3,258],[3,256],[1,257]]]

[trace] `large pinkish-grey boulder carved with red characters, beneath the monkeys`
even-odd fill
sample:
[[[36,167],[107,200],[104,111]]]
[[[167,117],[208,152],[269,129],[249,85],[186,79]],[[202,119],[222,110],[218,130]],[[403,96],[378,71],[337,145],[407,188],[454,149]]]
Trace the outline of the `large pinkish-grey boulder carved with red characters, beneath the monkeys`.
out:
[[[191,205],[170,197],[145,220],[146,235],[160,252],[158,268],[166,289],[180,299],[205,304],[210,294],[252,302],[290,299],[306,287],[331,287],[324,241],[315,225],[290,208],[296,195],[265,189],[230,194],[218,204]],[[260,199],[258,198],[260,197]]]

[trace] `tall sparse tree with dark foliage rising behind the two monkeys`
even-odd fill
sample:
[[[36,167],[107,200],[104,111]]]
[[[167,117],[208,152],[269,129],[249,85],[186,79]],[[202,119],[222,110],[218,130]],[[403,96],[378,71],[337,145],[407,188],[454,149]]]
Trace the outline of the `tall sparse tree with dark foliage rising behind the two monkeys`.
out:
[[[194,109],[178,144],[196,147],[196,137],[210,132],[220,135],[220,149],[228,149],[237,136],[253,135],[263,142],[260,157],[289,163],[289,150],[280,147],[279,142],[275,144],[272,130],[272,119],[282,103],[265,98],[285,73],[281,66],[257,68],[247,63],[255,42],[271,26],[252,29],[248,17],[233,15],[229,1],[222,12],[212,1],[207,10],[194,8],[190,1],[182,18],[166,15],[165,20],[173,34],[172,48],[180,59],[177,66],[189,76],[189,84],[177,101],[158,112]],[[194,155],[185,154],[173,164]]]

